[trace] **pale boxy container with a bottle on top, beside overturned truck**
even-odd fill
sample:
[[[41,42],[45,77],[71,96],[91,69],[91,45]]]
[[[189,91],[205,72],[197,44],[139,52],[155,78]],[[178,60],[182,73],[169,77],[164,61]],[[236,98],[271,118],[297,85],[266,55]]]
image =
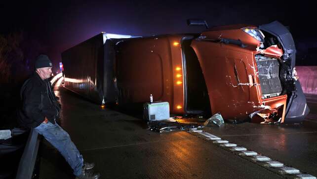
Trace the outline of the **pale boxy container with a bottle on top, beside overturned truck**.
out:
[[[148,121],[159,121],[169,119],[168,102],[144,103],[144,119]]]

